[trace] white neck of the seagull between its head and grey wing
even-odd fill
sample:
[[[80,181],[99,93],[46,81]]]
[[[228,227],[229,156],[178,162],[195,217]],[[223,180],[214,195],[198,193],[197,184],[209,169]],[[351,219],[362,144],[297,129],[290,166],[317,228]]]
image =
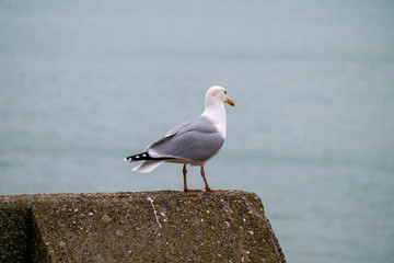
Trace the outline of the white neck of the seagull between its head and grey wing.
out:
[[[227,116],[224,104],[222,102],[215,103],[207,101],[201,115],[208,117],[215,124],[223,139],[225,139]]]

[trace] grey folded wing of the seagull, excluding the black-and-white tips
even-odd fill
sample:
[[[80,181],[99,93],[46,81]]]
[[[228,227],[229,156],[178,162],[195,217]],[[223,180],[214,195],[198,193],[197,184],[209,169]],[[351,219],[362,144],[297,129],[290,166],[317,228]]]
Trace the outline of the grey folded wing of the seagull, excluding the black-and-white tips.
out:
[[[170,132],[166,137],[151,145],[148,151],[162,158],[204,162],[224,144],[224,139],[207,117],[199,117]]]

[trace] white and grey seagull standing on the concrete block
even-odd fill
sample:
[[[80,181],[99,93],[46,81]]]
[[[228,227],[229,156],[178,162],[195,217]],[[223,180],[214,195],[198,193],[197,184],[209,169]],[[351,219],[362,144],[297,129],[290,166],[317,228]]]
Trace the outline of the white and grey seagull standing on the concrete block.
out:
[[[224,103],[234,106],[227,95],[227,90],[220,85],[208,89],[202,114],[167,132],[161,139],[148,146],[142,153],[126,157],[128,162],[144,161],[134,168],[134,172],[149,173],[164,162],[182,163],[184,191],[196,192],[187,187],[186,165],[199,165],[207,192],[220,192],[209,187],[205,176],[204,164],[218,155],[227,134],[227,116]]]

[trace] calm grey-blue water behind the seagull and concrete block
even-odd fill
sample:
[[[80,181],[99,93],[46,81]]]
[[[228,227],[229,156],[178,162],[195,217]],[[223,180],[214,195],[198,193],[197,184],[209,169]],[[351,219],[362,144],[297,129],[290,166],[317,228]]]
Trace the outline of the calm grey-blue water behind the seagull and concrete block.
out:
[[[289,262],[394,262],[393,28],[392,1],[2,0],[0,194],[182,190],[121,160],[221,84],[210,186],[258,194]]]

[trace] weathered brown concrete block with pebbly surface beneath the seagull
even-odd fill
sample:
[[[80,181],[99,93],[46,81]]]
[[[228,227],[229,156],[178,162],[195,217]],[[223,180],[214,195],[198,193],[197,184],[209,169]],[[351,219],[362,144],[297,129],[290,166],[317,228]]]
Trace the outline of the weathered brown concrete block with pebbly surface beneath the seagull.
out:
[[[0,262],[286,262],[255,194],[0,196]]]

